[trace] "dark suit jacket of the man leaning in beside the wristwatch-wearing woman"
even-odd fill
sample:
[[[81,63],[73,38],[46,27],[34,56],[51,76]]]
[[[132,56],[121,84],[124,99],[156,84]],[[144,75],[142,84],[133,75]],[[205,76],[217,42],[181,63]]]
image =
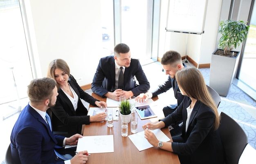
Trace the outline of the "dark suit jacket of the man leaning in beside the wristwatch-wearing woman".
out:
[[[183,63],[183,66],[186,67],[184,63]],[[173,92],[174,92],[175,98],[177,99],[177,104],[180,105],[180,103],[184,98],[184,95],[182,95],[180,92],[180,88],[177,84],[176,78],[172,79],[170,75],[168,76],[168,79],[163,84],[158,85],[158,88],[152,91],[153,97],[168,91],[171,87],[173,87]]]

